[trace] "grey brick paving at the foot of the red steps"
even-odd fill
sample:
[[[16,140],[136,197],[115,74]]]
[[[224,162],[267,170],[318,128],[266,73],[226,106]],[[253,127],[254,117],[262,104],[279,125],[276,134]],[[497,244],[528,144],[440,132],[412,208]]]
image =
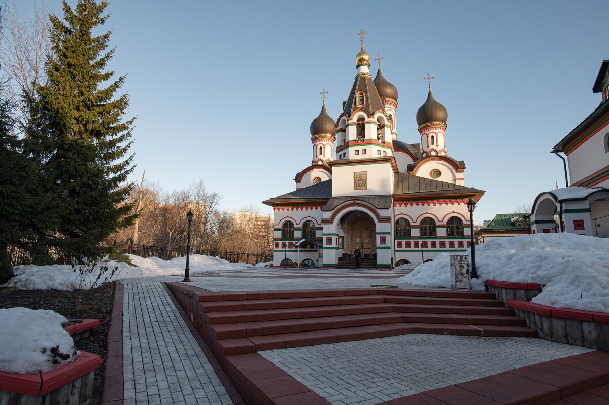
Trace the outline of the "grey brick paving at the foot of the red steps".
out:
[[[334,405],[374,405],[587,351],[533,338],[406,334],[258,353]]]

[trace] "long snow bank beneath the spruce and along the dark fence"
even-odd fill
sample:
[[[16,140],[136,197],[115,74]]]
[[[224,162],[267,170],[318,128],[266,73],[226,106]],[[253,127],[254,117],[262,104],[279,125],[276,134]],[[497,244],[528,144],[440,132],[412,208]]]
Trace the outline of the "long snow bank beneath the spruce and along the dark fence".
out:
[[[90,274],[79,275],[79,269],[87,269],[90,266],[77,265],[76,272],[69,265],[15,266],[13,273],[15,277],[2,286],[16,287],[19,289],[59,289],[63,291],[74,291],[76,289],[89,289],[99,275],[101,266],[108,266],[98,282],[99,286],[104,281],[136,279],[141,277],[166,277],[169,275],[183,275],[186,268],[186,257],[163,260],[158,257],[143,258],[135,255],[127,255],[135,266],[129,266],[124,261],[115,261],[108,258],[97,262],[97,266]],[[114,268],[118,267],[115,272]],[[219,257],[190,255],[189,268],[191,274],[206,271],[220,271],[224,269],[247,269],[254,268],[245,263],[230,263]],[[107,277],[107,280],[105,280]]]

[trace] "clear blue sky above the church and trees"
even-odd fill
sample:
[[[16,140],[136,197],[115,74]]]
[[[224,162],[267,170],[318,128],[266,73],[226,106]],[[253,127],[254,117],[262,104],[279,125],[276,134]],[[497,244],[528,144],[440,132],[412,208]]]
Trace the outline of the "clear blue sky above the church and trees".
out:
[[[60,1],[49,5],[62,15]],[[435,75],[449,156],[465,161],[466,185],[486,190],[476,223],[564,187],[549,151],[600,103],[591,88],[609,58],[606,0],[114,1],[107,10],[110,69],[127,75],[137,116],[133,180],[146,170],[171,190],[203,179],[229,210],[270,213],[261,201],[294,190],[311,161],[318,93],[328,89],[336,118],[362,28],[400,92],[400,140],[418,142],[423,77]]]

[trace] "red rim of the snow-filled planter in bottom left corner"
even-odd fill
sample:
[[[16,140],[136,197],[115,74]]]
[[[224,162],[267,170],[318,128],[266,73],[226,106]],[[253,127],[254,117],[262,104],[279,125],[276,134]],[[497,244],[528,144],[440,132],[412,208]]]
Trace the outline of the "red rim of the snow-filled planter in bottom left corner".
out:
[[[45,395],[99,369],[101,365],[100,356],[80,351],[76,360],[48,372],[18,374],[0,371],[0,390],[32,396]]]

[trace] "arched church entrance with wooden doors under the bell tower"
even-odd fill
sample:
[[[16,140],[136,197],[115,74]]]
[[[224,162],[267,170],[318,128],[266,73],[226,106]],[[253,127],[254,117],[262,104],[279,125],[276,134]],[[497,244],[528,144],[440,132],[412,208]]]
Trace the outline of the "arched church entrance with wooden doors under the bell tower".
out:
[[[345,234],[346,254],[353,254],[356,247],[362,252],[362,257],[376,258],[376,226],[375,221],[365,212],[351,212],[340,220]]]

